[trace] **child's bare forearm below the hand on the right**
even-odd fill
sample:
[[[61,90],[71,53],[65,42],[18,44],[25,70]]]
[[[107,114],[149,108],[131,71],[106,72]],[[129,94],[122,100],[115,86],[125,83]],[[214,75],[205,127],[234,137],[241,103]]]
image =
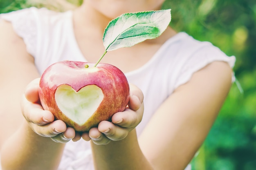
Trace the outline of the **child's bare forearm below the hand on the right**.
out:
[[[120,141],[91,144],[95,170],[153,170],[139,148],[135,130]]]

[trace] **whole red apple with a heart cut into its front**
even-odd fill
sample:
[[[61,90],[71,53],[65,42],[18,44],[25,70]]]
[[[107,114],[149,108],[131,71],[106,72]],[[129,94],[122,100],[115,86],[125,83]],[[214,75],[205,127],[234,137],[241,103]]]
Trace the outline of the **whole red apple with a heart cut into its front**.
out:
[[[56,119],[86,132],[113,114],[124,111],[130,90],[124,73],[111,64],[62,61],[40,78],[40,102]]]

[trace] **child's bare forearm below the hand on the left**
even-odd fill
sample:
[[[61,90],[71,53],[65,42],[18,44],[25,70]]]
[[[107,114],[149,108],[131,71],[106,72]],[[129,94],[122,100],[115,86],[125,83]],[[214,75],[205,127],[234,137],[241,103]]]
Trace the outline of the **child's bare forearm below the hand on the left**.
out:
[[[56,170],[64,146],[37,135],[25,122],[1,148],[2,170]]]

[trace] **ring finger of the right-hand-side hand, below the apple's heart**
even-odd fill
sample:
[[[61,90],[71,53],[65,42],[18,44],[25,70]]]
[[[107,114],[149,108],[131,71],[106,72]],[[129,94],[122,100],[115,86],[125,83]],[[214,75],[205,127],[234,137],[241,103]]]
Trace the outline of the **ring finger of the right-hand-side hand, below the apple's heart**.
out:
[[[103,133],[101,133],[98,128],[91,128],[89,130],[89,137],[96,145],[106,145],[110,142],[110,139],[108,139]]]

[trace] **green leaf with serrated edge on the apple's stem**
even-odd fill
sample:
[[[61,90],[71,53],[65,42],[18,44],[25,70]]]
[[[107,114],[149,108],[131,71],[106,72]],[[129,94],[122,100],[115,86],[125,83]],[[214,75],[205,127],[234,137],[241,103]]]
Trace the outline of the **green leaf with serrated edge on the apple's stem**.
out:
[[[171,9],[125,13],[112,20],[103,35],[106,51],[129,47],[161,35],[171,22]]]

